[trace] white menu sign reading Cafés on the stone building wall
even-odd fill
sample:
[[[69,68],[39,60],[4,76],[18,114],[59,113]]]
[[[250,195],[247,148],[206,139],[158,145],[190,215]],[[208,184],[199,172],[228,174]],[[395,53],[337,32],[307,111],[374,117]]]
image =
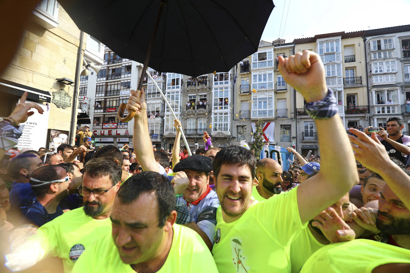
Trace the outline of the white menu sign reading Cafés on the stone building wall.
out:
[[[46,145],[46,135],[48,126],[48,106],[46,104],[38,104],[43,109],[43,114],[34,111],[34,114],[28,117],[27,121],[20,124],[20,130],[23,132],[18,139],[17,147],[21,149],[38,150]]]

